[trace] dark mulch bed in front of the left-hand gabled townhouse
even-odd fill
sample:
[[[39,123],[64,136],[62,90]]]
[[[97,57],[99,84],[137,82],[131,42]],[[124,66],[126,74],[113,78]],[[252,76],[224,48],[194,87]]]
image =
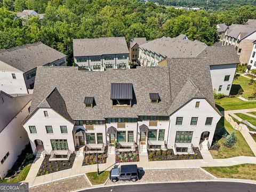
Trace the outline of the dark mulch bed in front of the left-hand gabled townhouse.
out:
[[[37,176],[54,173],[57,171],[62,171],[66,169],[71,169],[75,161],[76,155],[71,154],[69,160],[61,161],[49,161],[50,155],[45,155],[44,161],[37,173]]]

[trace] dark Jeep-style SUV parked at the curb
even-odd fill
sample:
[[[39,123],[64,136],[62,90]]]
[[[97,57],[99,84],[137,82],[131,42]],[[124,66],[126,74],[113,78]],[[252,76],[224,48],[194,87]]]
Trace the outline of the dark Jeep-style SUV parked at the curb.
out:
[[[118,180],[124,181],[137,181],[139,179],[140,169],[138,169],[137,165],[121,165],[114,166],[111,169],[109,179],[112,182],[116,182]]]

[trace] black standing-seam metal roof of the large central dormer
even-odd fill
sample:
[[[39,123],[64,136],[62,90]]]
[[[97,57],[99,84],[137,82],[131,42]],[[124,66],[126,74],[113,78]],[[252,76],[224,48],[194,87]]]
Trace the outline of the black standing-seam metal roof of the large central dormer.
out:
[[[132,84],[111,83],[110,99],[132,99]]]

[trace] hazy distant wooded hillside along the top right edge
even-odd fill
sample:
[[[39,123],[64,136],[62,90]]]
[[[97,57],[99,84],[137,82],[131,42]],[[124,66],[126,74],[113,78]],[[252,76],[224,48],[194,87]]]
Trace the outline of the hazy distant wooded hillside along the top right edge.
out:
[[[150,0],[161,5],[200,7],[206,9],[207,0]],[[256,5],[256,0],[209,0],[208,9],[227,10],[243,5]]]

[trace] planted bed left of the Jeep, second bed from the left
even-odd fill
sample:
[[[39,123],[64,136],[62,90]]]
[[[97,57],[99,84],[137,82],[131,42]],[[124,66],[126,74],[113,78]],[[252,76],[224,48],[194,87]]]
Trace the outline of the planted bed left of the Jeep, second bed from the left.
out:
[[[108,155],[106,153],[98,153],[99,164],[106,163]],[[85,154],[83,165],[93,165],[97,163],[97,153]]]

